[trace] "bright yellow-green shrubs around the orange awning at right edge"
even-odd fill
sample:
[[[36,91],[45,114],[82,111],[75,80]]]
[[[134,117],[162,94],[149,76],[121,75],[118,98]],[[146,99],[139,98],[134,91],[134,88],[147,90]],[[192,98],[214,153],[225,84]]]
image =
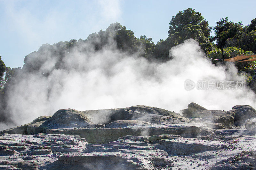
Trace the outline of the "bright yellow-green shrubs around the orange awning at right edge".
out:
[[[254,55],[254,53],[252,51],[244,51],[241,48],[237,48],[237,47],[228,47],[223,49],[223,53],[224,53],[224,58],[228,59],[228,58],[232,58],[235,57],[236,55]],[[209,51],[207,53],[207,56],[209,58],[214,58],[214,59],[220,59],[222,60],[222,53],[221,53],[221,49],[214,49],[212,51]],[[245,70],[255,70],[256,69],[256,62],[252,61],[252,62],[238,62],[235,63],[237,69],[239,71],[245,71]]]

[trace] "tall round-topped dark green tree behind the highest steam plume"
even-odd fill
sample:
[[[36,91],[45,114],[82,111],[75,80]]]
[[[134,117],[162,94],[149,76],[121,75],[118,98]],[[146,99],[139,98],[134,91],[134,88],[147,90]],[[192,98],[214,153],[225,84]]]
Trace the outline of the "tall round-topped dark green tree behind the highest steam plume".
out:
[[[210,36],[211,29],[212,27],[209,26],[208,21],[204,19],[200,12],[191,8],[180,11],[172,17],[168,38],[157,42],[152,55],[162,61],[169,60],[170,48],[189,38],[196,40],[206,51],[210,51],[216,48]]]

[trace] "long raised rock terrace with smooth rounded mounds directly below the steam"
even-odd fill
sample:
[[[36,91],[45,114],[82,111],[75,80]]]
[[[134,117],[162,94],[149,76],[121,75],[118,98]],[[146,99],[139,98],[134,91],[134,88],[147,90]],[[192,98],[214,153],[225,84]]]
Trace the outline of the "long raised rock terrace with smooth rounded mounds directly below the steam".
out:
[[[62,109],[52,116],[38,117],[31,123],[4,130],[0,134],[71,134],[86,138],[89,143],[108,143],[126,135],[212,137],[212,129],[231,126],[235,116],[232,111],[207,110],[196,103],[190,103],[188,109],[183,110],[183,115],[188,118],[172,111],[142,105],[87,111]],[[98,124],[102,121],[105,125]]]

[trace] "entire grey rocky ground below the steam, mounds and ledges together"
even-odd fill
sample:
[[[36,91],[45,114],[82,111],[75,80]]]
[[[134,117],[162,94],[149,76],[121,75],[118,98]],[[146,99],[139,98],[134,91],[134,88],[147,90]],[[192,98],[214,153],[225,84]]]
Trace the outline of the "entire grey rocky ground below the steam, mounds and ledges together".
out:
[[[256,111],[196,103],[78,111],[0,132],[0,169],[255,169]]]

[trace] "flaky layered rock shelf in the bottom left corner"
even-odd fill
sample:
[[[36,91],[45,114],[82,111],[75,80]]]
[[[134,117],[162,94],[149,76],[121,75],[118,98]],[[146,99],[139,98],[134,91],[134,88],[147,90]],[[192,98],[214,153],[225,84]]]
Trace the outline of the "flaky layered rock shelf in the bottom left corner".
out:
[[[71,135],[18,135],[0,137],[0,169],[40,169],[60,153],[85,150],[87,142]]]

